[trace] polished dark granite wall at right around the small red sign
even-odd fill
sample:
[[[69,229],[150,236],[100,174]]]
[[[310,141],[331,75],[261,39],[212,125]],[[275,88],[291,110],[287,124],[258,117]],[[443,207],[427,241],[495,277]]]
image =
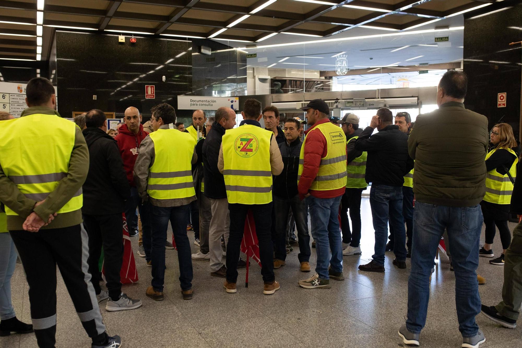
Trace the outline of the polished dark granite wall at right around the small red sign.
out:
[[[466,107],[497,122],[511,124],[519,139],[522,5],[464,22],[464,71],[468,75]],[[514,28],[509,28],[514,27]],[[506,107],[497,95],[506,92]]]

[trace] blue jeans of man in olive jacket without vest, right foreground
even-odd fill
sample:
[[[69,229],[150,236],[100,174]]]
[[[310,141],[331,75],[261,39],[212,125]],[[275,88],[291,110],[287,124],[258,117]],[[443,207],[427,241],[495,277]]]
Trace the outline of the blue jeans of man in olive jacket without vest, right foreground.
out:
[[[431,269],[438,243],[446,229],[455,269],[455,303],[459,330],[463,337],[477,334],[479,327],[475,316],[480,313],[480,296],[476,271],[479,265],[477,250],[481,227],[480,205],[452,207],[416,202],[413,213],[411,272],[408,279],[408,331],[420,333],[426,323]]]

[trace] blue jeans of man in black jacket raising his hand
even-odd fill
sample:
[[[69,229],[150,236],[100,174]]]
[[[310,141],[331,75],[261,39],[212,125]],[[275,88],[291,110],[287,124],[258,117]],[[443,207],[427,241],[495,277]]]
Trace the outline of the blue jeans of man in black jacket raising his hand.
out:
[[[373,229],[375,230],[375,263],[384,265],[388,240],[388,219],[395,232],[394,253],[397,261],[406,261],[406,229],[402,217],[402,187],[372,184],[370,190]]]

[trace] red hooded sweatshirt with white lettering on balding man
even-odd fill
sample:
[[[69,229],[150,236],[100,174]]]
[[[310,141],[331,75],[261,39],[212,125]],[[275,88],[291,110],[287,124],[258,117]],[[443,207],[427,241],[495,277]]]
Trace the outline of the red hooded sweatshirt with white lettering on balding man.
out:
[[[139,145],[147,135],[149,135],[149,133],[143,130],[143,125],[141,124],[139,125],[138,134],[129,131],[127,125],[123,124],[120,127],[120,130],[118,130],[118,135],[114,138],[118,143],[118,148],[120,148],[120,155],[123,159],[123,168],[125,169],[127,180],[131,187],[136,186],[133,178],[133,170],[136,158],[138,158]]]

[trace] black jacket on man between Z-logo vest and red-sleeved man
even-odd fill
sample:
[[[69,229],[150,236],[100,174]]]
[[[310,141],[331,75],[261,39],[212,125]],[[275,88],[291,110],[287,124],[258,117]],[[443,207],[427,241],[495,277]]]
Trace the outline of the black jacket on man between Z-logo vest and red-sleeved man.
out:
[[[274,195],[290,199],[299,194],[297,190],[297,176],[299,171],[299,155],[301,153],[300,138],[294,140],[290,145],[287,141],[279,144],[279,150],[283,159],[283,171],[274,177]]]

